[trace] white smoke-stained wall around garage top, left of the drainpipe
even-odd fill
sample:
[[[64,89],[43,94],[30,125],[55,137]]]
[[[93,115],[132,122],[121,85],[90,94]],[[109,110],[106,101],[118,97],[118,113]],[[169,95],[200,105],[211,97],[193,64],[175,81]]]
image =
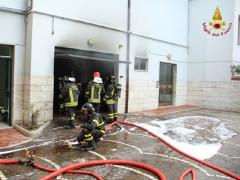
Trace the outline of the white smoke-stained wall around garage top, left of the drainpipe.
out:
[[[126,1],[34,1],[30,20],[34,23],[28,33],[31,74],[53,75],[55,46],[115,53],[126,61],[126,34],[122,32],[126,10]],[[96,41],[93,47],[87,44],[89,38]],[[119,49],[119,44],[124,47]]]

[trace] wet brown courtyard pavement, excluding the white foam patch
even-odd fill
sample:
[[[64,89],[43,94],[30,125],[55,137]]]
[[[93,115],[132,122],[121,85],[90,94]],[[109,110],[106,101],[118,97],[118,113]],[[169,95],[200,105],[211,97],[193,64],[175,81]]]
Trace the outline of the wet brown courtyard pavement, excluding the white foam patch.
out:
[[[130,123],[151,124],[152,121],[168,121],[182,117],[211,117],[218,119],[224,126],[233,132],[233,136],[221,142],[221,147],[212,157],[204,159],[207,163],[226,170],[240,178],[240,113],[209,110],[191,109],[179,112],[159,114],[158,111],[146,111],[132,114],[120,115],[119,119]],[[196,137],[207,139],[205,143],[219,141],[212,131],[217,129],[220,123],[211,123],[207,119],[188,120],[187,127],[197,131],[197,136],[189,143],[199,143]],[[203,123],[204,122],[204,123]],[[196,129],[201,124],[201,129]],[[85,152],[70,148],[69,142],[76,139],[78,130],[64,129],[66,120],[64,118],[54,119],[50,126],[44,130],[41,136],[25,141],[21,144],[0,148],[0,161],[9,159],[27,159],[26,149],[33,154],[34,163],[52,169],[61,169],[80,162],[96,160],[128,160],[147,164],[161,171],[167,180],[177,180],[180,176],[192,168],[196,173],[197,180],[221,180],[234,179],[230,176],[207,167],[192,160],[159,139],[151,136],[146,131],[129,125],[119,124],[107,131],[103,140],[98,143],[95,151]],[[159,130],[162,128],[158,127]],[[155,129],[157,130],[157,129]],[[216,130],[218,131],[218,130]],[[157,131],[156,131],[157,132]],[[174,131],[168,130],[166,136],[181,140]],[[209,138],[207,138],[210,136]],[[183,138],[182,138],[183,139]],[[190,139],[190,140],[189,140]],[[187,148],[187,147],[186,147]],[[155,174],[147,170],[126,165],[99,165],[81,168],[97,173],[103,179],[158,179]],[[40,179],[49,172],[34,168],[29,165],[11,164],[0,165],[0,179]],[[59,175],[58,179],[96,179],[89,175],[65,173]],[[185,179],[192,179],[187,175]]]

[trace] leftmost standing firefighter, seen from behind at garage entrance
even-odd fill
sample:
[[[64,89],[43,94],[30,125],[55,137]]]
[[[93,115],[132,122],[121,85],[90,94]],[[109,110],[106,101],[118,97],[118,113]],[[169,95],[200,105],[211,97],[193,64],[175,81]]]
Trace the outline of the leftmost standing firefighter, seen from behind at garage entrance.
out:
[[[63,86],[62,92],[59,95],[60,99],[63,99],[63,105],[66,110],[66,115],[68,118],[68,126],[66,129],[75,128],[75,109],[78,105],[78,98],[80,91],[78,86],[75,84],[74,77],[64,77],[65,84]]]

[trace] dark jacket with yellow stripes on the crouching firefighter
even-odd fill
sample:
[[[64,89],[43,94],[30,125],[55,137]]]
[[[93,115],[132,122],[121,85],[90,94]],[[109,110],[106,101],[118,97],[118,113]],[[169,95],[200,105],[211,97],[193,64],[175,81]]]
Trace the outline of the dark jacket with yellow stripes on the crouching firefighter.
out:
[[[102,117],[94,112],[91,115],[88,115],[87,117],[87,123],[81,125],[82,128],[85,128],[89,131],[93,130],[93,129],[97,129],[99,131],[101,131],[103,134],[105,133],[105,123],[102,119]]]

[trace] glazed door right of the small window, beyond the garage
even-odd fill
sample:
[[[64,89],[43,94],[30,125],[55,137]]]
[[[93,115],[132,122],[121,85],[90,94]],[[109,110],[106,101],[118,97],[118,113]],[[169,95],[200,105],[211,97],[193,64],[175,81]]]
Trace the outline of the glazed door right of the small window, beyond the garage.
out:
[[[175,94],[176,65],[160,62],[158,106],[172,106]]]

